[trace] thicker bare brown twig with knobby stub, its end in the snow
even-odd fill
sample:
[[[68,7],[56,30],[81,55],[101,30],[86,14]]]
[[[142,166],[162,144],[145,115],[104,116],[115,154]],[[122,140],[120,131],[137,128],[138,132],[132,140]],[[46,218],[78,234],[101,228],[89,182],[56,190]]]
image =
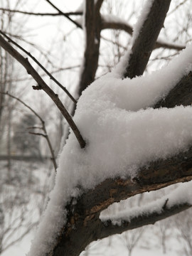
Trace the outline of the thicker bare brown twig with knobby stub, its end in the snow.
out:
[[[34,80],[38,83],[37,87],[33,87],[33,89],[44,90],[47,95],[55,102],[55,105],[60,110],[63,117],[65,117],[66,121],[70,125],[71,129],[73,130],[75,137],[78,139],[81,148],[85,147],[85,140],[82,138],[78,127],[76,126],[75,122],[73,121],[72,117],[70,116],[68,110],[66,110],[63,103],[60,101],[60,98],[50,87],[46,84],[46,82],[41,78],[41,76],[37,73],[37,71],[33,68],[33,66],[29,63],[28,58],[24,58],[23,55],[18,53],[16,49],[14,49],[10,43],[4,40],[2,36],[0,36],[0,46],[4,48],[12,57],[14,57],[24,68],[29,75],[31,75]]]

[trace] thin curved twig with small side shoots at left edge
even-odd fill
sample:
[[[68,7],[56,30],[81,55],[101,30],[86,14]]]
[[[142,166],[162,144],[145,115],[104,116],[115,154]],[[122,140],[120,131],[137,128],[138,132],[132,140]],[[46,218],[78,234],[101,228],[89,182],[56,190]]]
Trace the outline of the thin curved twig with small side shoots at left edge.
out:
[[[21,104],[23,104],[25,107],[28,108],[28,110],[30,110],[31,112],[33,112],[33,114],[36,115],[36,117],[38,117],[38,119],[40,119],[41,121],[41,124],[42,124],[42,127],[30,127],[31,129],[43,129],[43,132],[44,134],[38,134],[38,133],[32,133],[32,132],[29,132],[30,134],[36,134],[36,135],[41,135],[43,137],[46,138],[46,141],[48,142],[48,147],[50,149],[50,154],[51,154],[51,160],[53,161],[53,166],[54,166],[54,169],[55,171],[57,171],[57,164],[56,164],[56,160],[55,160],[55,154],[54,154],[54,150],[53,150],[53,146],[52,144],[50,143],[50,139],[48,137],[48,133],[47,133],[47,130],[46,130],[46,124],[44,122],[44,120],[40,117],[40,115],[35,111],[33,110],[30,106],[28,106],[25,102],[23,102],[23,100],[19,99],[18,97],[14,96],[14,95],[11,95],[9,92],[0,92],[2,95],[8,95],[9,97],[17,100],[18,102],[20,102]]]

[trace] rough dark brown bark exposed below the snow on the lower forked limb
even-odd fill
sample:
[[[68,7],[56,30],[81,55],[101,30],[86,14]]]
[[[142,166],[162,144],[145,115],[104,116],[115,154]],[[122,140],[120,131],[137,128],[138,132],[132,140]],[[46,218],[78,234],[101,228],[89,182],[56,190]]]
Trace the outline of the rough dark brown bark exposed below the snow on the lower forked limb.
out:
[[[98,238],[148,225],[191,207],[188,203],[184,203],[171,209],[164,209],[161,214],[154,213],[148,217],[141,215],[137,219],[138,223],[133,218],[131,223],[125,223],[122,228],[112,227],[109,222],[109,229],[107,229],[99,218],[100,212],[114,202],[191,179],[192,148],[170,159],[152,162],[149,168],[142,168],[134,180],[132,178],[107,179],[94,189],[85,191],[75,205],[73,200],[68,204],[68,222],[63,227],[53,255],[79,255],[90,242]]]

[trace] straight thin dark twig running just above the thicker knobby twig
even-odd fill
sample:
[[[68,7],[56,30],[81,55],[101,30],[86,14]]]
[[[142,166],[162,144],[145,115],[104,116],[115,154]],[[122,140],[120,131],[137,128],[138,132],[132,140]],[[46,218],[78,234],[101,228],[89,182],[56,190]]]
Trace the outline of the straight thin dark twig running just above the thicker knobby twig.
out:
[[[68,90],[60,84],[60,82],[58,82],[58,80],[56,80],[53,75],[51,75],[48,70],[46,70],[46,68],[43,67],[43,65],[41,65],[41,63],[38,62],[38,60],[33,57],[33,55],[31,55],[31,53],[28,53],[27,50],[25,50],[23,47],[19,46],[18,43],[16,43],[15,41],[13,41],[9,36],[6,35],[6,33],[4,33],[3,31],[0,30],[0,33],[9,40],[9,43],[13,43],[16,47],[18,47],[20,50],[23,51],[23,53],[26,53],[33,61],[35,61],[35,63],[43,69],[43,71],[45,71],[45,73],[50,77],[51,80],[53,80],[61,89],[64,90],[64,92],[70,97],[71,100],[73,100],[73,102],[75,104],[77,104],[77,101],[74,99],[74,97],[70,94],[70,92],[68,92]]]

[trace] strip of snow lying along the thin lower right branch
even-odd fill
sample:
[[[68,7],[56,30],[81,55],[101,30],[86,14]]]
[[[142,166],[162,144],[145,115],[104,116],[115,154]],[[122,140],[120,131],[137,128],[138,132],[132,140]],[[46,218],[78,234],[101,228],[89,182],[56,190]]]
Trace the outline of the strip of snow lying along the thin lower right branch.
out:
[[[114,215],[106,215],[101,213],[100,219],[104,223],[107,222],[107,220],[111,220],[113,225],[122,225],[124,221],[130,222],[132,218],[137,218],[141,215],[161,213],[165,203],[167,209],[181,203],[189,203],[192,205],[192,181],[189,181],[188,183],[181,183],[178,188],[174,189],[174,191],[168,195],[148,203],[146,206],[135,206],[129,210],[121,210],[119,213]]]

